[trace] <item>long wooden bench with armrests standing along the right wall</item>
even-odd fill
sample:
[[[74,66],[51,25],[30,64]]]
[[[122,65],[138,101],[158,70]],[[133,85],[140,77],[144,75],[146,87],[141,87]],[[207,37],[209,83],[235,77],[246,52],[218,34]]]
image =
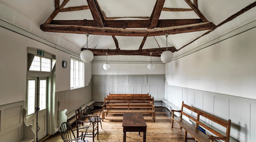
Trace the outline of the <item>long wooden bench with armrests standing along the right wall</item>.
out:
[[[197,116],[193,117],[191,115],[188,115],[188,113],[184,112],[184,108],[190,110],[193,113],[196,113]],[[179,112],[180,116],[175,116],[174,112]],[[191,121],[194,121],[196,126],[191,125],[188,121],[183,119],[183,116],[186,116]],[[226,129],[225,133],[223,132],[224,133],[223,134],[219,130],[214,129],[212,126],[202,121],[202,119],[200,119],[202,117],[207,118],[210,121],[213,121],[214,123],[225,127]],[[214,140],[222,140],[222,141],[229,142],[230,140],[230,127],[231,127],[230,119],[228,121],[225,121],[221,118],[218,118],[216,116],[203,112],[202,110],[186,105],[184,104],[184,102],[182,102],[181,110],[172,110],[172,127],[174,127],[174,121],[177,122],[180,125],[180,127],[182,127],[185,130],[185,141],[188,139],[195,139],[196,141],[213,142]],[[202,132],[204,129],[207,129],[208,132],[213,133],[213,135],[206,135],[205,133]],[[188,133],[193,138],[188,138],[187,137]]]

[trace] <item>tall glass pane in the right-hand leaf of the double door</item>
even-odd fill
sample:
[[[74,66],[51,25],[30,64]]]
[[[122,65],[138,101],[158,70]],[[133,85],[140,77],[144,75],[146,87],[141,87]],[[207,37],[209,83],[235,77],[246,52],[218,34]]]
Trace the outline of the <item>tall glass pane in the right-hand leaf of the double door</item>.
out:
[[[39,108],[43,110],[46,108],[46,80],[40,80],[40,98]]]

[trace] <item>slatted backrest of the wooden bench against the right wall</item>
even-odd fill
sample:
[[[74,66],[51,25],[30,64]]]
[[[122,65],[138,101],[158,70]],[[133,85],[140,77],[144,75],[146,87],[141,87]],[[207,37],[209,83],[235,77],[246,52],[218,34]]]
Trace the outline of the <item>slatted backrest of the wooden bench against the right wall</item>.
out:
[[[188,110],[191,110],[192,112],[197,113],[197,118],[194,118],[194,117],[188,115],[187,113],[185,113],[183,111],[184,108],[187,108]],[[189,119],[191,119],[192,121],[196,122],[196,128],[198,128],[199,126],[202,126],[205,129],[207,129],[208,131],[210,131],[211,133],[214,133],[214,135],[217,135],[218,137],[226,137],[225,141],[229,141],[229,139],[230,139],[230,127],[231,127],[231,120],[230,119],[228,121],[225,121],[224,119],[218,118],[216,116],[210,115],[209,113],[203,112],[202,110],[199,110],[197,108],[186,105],[186,104],[184,104],[184,101],[182,102],[181,116],[180,117],[182,117],[182,115],[185,115]],[[207,119],[210,119],[211,121],[216,122],[217,124],[225,127],[226,128],[225,136],[222,135],[222,133],[219,133],[218,131],[212,129],[211,127],[208,127],[206,124],[204,124],[202,121],[200,121],[201,116],[203,116]]]

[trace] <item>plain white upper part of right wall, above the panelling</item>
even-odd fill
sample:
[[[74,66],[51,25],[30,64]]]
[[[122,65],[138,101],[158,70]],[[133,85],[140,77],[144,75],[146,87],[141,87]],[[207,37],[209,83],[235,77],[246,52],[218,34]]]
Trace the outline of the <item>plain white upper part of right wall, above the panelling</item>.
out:
[[[169,85],[256,99],[256,29],[166,65]]]

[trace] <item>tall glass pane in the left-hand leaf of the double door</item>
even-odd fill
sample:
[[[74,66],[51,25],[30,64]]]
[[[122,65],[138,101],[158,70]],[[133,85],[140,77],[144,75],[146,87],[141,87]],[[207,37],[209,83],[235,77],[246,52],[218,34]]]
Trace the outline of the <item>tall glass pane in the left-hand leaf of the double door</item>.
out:
[[[27,115],[35,112],[35,80],[29,80],[27,89]]]

